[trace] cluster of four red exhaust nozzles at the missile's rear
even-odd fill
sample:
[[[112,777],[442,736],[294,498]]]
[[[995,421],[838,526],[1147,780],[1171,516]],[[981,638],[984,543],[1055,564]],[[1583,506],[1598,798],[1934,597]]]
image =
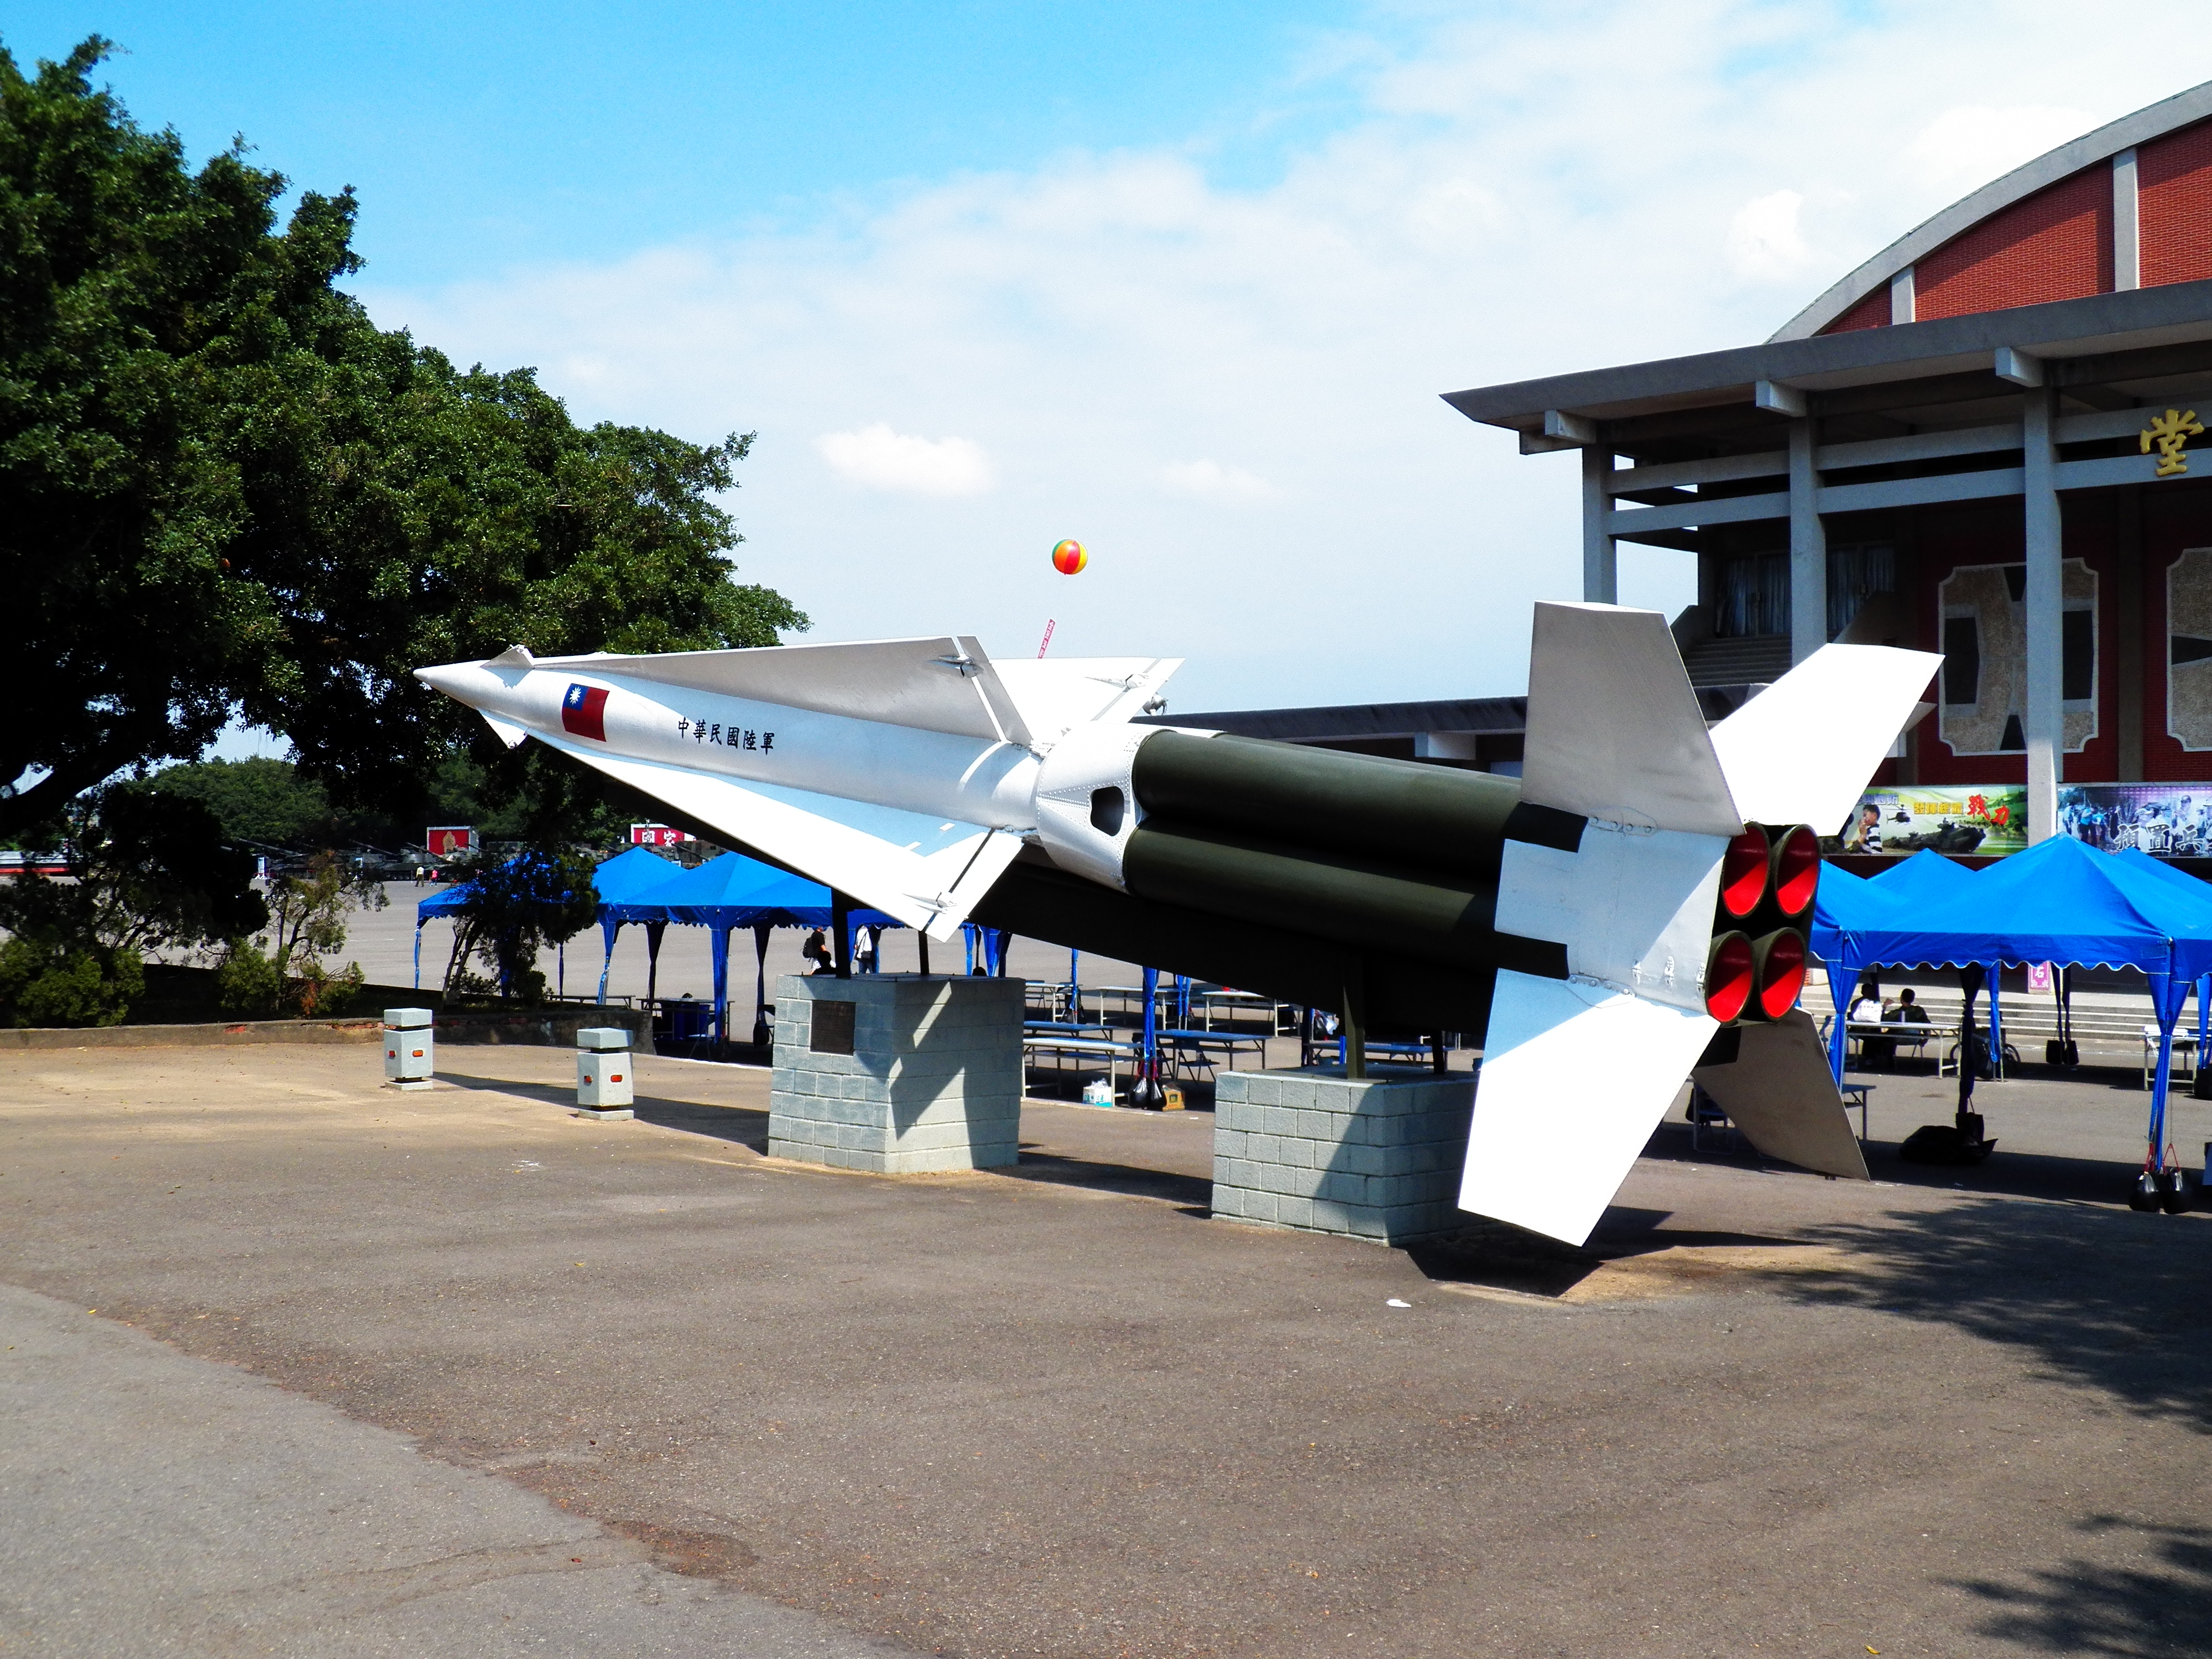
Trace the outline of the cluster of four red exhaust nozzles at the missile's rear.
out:
[[[1796,1006],[1818,891],[1820,838],[1807,825],[1743,825],[1721,856],[1705,1013],[1721,1024],[1763,1024]]]

